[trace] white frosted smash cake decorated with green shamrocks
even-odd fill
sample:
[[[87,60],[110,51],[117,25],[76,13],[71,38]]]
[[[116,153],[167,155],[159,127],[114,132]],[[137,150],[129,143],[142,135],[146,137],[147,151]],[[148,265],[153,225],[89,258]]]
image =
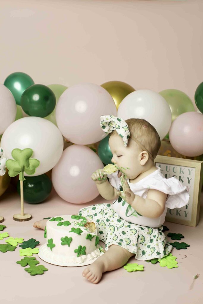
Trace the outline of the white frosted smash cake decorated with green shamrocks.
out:
[[[44,230],[47,242],[39,248],[39,257],[59,266],[83,266],[104,253],[99,245],[95,223],[79,215],[54,216]]]

